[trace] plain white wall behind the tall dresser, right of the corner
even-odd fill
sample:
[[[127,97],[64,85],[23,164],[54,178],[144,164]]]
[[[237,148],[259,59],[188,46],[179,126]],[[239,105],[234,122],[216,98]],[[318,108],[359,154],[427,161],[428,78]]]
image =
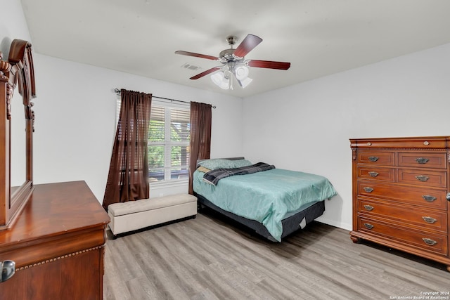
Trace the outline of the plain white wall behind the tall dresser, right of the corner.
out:
[[[352,228],[349,138],[450,133],[450,44],[245,98],[244,155],[330,179],[319,221]]]

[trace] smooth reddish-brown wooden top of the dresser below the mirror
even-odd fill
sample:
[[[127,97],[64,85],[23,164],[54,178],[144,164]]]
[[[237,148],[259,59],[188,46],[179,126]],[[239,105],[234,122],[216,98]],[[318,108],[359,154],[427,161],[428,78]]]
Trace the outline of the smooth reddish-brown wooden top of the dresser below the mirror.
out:
[[[84,181],[34,185],[30,200],[8,230],[0,231],[0,252],[13,244],[33,244],[110,222]]]

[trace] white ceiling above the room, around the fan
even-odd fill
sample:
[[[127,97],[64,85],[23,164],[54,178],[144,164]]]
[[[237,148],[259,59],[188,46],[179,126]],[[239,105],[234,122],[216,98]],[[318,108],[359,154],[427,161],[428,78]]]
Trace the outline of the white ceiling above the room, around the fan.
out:
[[[198,89],[246,97],[450,42],[449,0],[22,0],[34,51]],[[224,91],[209,76],[228,35],[263,39],[245,57],[252,83]],[[191,71],[185,63],[201,67]],[[112,86],[111,88],[115,88]],[[151,92],[151,91],[147,91]]]

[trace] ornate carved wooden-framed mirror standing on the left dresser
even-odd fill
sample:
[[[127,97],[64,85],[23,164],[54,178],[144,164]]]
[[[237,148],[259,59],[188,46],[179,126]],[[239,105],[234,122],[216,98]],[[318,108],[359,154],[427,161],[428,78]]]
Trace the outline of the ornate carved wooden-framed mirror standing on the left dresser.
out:
[[[15,39],[0,52],[0,230],[11,228],[33,189],[34,67],[31,44]]]

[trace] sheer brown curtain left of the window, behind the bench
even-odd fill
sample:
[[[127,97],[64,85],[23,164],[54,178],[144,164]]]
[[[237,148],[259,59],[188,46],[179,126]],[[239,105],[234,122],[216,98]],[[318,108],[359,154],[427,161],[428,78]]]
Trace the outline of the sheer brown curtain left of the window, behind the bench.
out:
[[[106,182],[103,208],[117,202],[146,199],[148,184],[148,125],[152,95],[120,91],[120,117]]]

